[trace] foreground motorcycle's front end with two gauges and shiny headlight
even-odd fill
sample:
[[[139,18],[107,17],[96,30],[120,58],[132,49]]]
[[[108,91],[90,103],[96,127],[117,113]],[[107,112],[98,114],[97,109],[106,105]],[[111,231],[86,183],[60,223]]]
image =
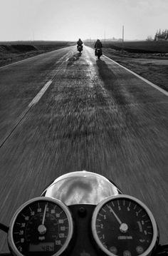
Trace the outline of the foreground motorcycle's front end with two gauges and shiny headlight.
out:
[[[58,177],[0,227],[10,249],[1,256],[168,255],[147,205],[86,171]]]

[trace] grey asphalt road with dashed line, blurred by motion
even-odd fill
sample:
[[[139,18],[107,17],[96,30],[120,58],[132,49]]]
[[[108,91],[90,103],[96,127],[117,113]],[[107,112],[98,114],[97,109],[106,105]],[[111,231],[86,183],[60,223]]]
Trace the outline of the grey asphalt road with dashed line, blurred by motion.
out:
[[[167,102],[86,46],[0,68],[0,221],[58,175],[88,170],[146,203],[168,243]]]

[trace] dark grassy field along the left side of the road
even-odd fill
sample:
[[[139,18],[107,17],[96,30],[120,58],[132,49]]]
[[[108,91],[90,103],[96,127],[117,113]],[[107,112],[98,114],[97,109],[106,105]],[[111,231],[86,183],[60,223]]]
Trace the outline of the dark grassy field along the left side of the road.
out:
[[[0,42],[0,66],[21,61],[47,51],[73,45],[68,41],[15,41]]]

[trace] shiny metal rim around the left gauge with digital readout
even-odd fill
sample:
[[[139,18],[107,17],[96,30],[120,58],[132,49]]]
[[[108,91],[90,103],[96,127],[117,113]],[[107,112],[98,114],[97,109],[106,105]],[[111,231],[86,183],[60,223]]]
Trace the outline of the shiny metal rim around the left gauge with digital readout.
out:
[[[12,217],[11,222],[9,224],[9,234],[8,234],[9,248],[10,248],[12,254],[15,256],[23,256],[21,254],[21,252],[19,252],[19,250],[17,249],[17,247],[14,243],[13,229],[14,229],[14,223],[16,221],[16,218],[18,217],[19,213],[21,213],[21,211],[24,208],[26,208],[28,205],[31,205],[31,203],[36,203],[39,201],[46,201],[46,202],[51,202],[51,203],[57,204],[60,208],[62,208],[64,210],[65,214],[68,217],[68,225],[69,225],[68,237],[66,238],[65,243],[63,244],[63,247],[61,247],[61,249],[58,252],[54,253],[52,256],[61,255],[61,253],[63,253],[65,251],[65,249],[67,249],[69,242],[73,236],[73,219],[70,214],[70,210],[63,202],[61,202],[60,200],[57,200],[56,198],[47,198],[47,197],[33,198],[31,200],[28,200],[26,203],[23,203],[23,205],[21,205],[20,208],[18,210],[16,210],[16,213],[14,213],[14,216]]]

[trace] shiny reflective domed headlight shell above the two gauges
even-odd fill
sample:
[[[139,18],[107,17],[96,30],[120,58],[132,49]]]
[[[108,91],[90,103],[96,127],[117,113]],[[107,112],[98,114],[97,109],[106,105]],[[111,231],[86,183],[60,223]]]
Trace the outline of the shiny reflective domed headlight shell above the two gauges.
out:
[[[120,190],[107,178],[83,170],[57,178],[43,191],[42,196],[56,198],[65,205],[98,205],[103,199],[119,193]]]

